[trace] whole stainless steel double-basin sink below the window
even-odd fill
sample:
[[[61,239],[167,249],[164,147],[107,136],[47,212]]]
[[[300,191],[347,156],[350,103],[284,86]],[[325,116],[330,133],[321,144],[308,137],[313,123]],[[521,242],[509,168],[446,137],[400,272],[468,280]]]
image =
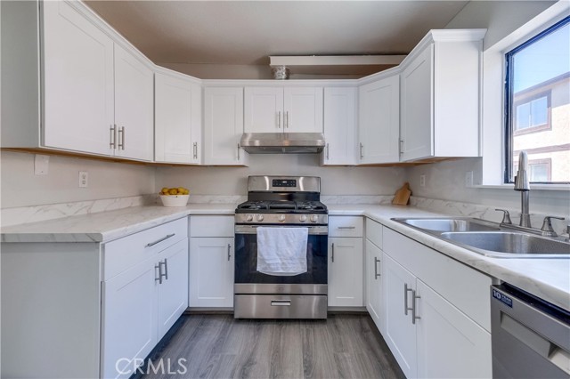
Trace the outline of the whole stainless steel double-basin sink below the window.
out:
[[[570,258],[570,243],[534,236],[523,231],[503,230],[496,222],[470,217],[394,218],[413,229],[497,258]]]

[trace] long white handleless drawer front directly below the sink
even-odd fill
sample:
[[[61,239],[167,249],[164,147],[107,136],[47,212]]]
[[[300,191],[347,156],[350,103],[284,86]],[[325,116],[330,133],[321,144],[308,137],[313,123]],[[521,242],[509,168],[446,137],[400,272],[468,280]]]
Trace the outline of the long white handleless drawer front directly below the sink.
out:
[[[389,228],[384,228],[383,234],[385,254],[491,331],[491,277]]]

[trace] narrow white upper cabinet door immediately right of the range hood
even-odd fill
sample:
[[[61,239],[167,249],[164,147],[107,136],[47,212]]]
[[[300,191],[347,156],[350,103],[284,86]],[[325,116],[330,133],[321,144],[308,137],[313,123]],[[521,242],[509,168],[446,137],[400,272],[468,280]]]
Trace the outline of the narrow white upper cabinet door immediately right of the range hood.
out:
[[[322,165],[356,164],[356,88],[324,89]]]

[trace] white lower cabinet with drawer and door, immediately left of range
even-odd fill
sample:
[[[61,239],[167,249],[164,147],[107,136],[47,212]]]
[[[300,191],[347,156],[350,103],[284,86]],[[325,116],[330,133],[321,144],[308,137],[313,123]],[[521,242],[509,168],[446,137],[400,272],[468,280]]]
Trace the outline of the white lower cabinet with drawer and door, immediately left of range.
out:
[[[232,308],[234,270],[232,216],[191,216],[191,308]]]

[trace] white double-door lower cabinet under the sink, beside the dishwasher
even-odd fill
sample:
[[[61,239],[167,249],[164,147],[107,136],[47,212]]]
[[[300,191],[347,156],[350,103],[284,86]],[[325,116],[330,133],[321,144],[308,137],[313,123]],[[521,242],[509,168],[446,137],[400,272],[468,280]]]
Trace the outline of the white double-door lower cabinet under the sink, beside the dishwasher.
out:
[[[393,230],[383,238],[384,337],[403,373],[491,377],[491,278]]]

